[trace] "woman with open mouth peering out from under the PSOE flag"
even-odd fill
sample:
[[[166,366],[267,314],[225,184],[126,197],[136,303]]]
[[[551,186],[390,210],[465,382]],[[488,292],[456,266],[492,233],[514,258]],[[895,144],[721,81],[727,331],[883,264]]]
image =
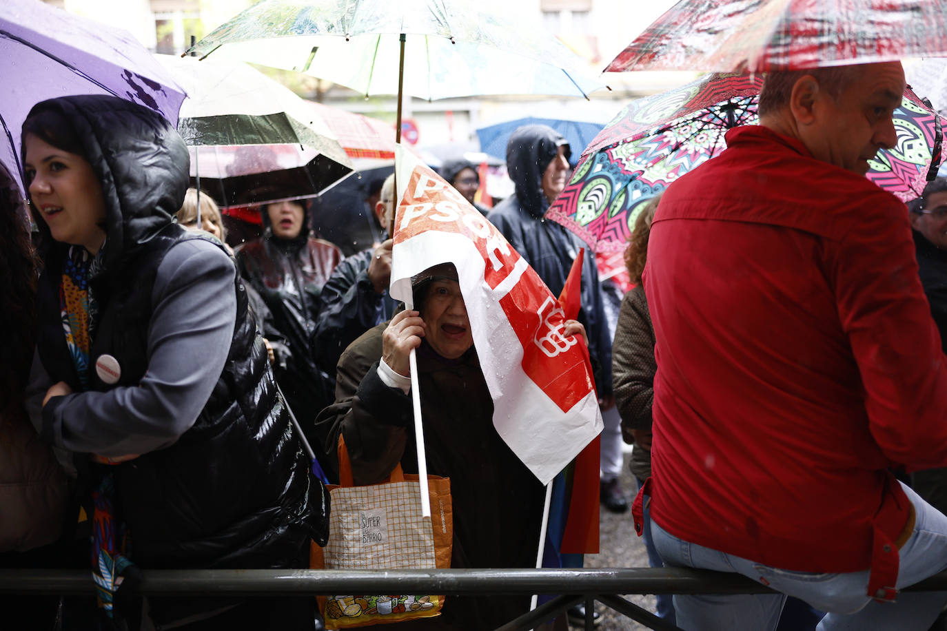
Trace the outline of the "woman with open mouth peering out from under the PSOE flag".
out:
[[[543,485],[493,426],[456,268],[428,268],[412,288],[416,310],[370,329],[339,360],[336,401],[318,420],[327,454],[348,451],[356,484],[381,482],[397,464],[418,472],[408,360],[416,349],[428,470],[451,479],[452,568],[534,567]],[[575,321],[564,332],[584,335]],[[528,607],[527,596],[451,597],[436,625],[495,628]]]

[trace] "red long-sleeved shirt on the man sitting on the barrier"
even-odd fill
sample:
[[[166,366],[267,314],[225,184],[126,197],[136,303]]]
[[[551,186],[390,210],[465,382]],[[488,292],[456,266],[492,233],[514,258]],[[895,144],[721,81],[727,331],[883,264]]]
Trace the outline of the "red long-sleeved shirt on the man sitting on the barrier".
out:
[[[774,131],[726,139],[652,224],[652,517],[786,570],[885,565],[889,587],[910,509],[887,467],[947,465],[907,211]]]

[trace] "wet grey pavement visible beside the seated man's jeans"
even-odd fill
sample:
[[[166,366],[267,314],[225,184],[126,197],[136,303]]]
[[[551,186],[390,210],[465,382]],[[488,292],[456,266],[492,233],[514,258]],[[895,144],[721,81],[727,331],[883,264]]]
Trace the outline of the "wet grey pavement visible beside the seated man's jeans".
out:
[[[634,500],[634,493],[637,491],[634,478],[628,470],[628,459],[631,453],[624,454],[624,464],[621,473],[621,490],[628,503]],[[645,552],[644,540],[634,534],[634,523],[632,522],[632,512],[616,515],[609,512],[604,506],[600,507],[599,512],[599,554],[587,554],[585,556],[586,568],[647,568],[648,553]],[[635,605],[639,605],[654,613],[654,597],[652,595],[628,595],[625,598]],[[602,622],[596,626],[597,631],[631,631],[638,629],[647,629],[648,627],[625,618],[613,609],[600,603],[596,604],[596,610],[603,616]],[[571,627],[579,629],[582,627]]]

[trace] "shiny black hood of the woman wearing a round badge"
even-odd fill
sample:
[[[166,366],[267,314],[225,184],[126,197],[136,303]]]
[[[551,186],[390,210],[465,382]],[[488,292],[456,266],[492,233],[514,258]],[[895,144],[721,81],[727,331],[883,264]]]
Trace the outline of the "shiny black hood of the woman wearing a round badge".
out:
[[[188,190],[188,147],[160,114],[117,96],[60,96],[37,103],[29,114],[41,110],[72,126],[102,185],[108,270],[173,221]],[[45,221],[34,218],[51,243]]]

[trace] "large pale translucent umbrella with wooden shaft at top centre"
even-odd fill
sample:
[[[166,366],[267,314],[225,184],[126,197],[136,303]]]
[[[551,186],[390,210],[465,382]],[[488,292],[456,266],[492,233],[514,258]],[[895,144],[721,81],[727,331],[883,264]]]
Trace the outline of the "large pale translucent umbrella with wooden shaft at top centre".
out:
[[[473,0],[263,0],[192,51],[304,72],[370,95],[587,96],[603,87],[539,23]]]

